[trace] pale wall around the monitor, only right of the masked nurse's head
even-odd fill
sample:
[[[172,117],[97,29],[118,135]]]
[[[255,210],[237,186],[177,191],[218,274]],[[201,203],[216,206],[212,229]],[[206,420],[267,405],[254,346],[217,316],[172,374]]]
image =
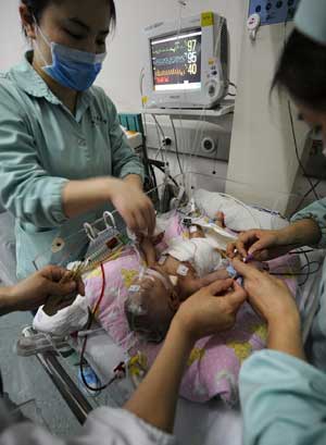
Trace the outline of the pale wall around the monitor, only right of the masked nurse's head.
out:
[[[110,94],[118,109],[140,108],[139,74],[143,66],[142,29],[152,23],[179,16],[177,0],[116,1],[117,27],[109,46],[109,59],[99,84]],[[224,15],[230,29],[230,78],[236,82],[244,16],[243,0],[186,0],[184,15],[212,10]]]

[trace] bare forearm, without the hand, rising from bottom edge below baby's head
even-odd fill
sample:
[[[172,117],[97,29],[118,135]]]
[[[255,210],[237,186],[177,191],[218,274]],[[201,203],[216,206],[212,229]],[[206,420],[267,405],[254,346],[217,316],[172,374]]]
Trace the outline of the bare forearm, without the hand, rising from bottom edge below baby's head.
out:
[[[192,346],[193,342],[173,321],[154,364],[125,409],[171,433],[179,384]]]

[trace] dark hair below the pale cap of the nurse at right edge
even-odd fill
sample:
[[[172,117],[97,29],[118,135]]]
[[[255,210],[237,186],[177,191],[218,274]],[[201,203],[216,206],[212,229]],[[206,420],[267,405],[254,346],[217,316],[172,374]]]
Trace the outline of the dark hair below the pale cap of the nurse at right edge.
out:
[[[326,112],[326,45],[294,29],[280,55],[272,89],[286,89],[312,110]]]

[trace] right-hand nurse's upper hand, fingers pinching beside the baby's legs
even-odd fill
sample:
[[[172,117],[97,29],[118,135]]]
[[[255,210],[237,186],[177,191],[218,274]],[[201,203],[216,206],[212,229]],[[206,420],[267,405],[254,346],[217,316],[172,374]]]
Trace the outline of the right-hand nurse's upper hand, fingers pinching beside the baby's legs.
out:
[[[283,231],[254,228],[242,232],[234,243],[229,243],[226,254],[231,259],[236,258],[237,255],[240,255],[242,258],[253,255],[255,260],[266,261],[284,255],[285,249],[281,246],[285,243],[286,239],[284,239]],[[288,250],[289,248],[287,248]]]

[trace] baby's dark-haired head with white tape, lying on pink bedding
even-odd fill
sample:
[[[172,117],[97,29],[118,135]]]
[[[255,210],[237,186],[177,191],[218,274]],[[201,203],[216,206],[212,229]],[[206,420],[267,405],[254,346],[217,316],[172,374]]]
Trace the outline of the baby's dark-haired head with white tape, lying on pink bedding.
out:
[[[168,276],[148,269],[129,288],[125,313],[131,331],[148,342],[164,339],[179,300]]]

